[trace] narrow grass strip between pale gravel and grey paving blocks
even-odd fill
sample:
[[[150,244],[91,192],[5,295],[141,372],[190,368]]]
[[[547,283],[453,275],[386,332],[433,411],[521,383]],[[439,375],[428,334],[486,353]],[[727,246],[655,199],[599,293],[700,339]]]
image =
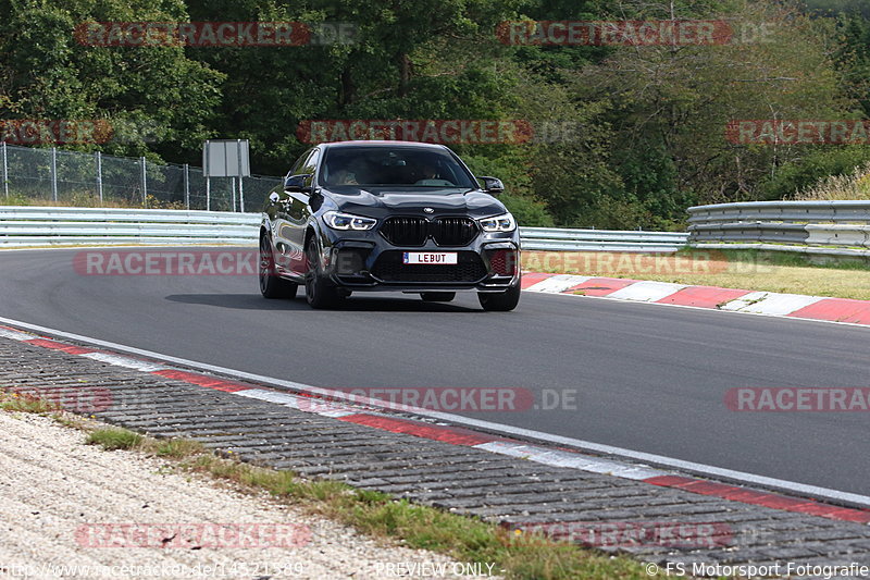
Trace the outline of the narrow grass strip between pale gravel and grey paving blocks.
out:
[[[14,397],[0,392],[0,407]],[[13,403],[14,410],[40,407]],[[13,410],[13,409],[11,409]],[[34,411],[41,412],[41,411]],[[44,412],[45,414],[45,412]],[[274,470],[219,456],[195,441],[156,440],[116,427],[83,422],[59,412],[54,419],[88,433],[87,442],[104,449],[130,449],[173,461],[176,469],[226,482],[251,493],[269,493],[311,514],[350,526],[361,533],[400,545],[446,554],[460,562],[492,563],[494,571],[518,580],[641,580],[650,576],[644,565],[625,556],[607,556],[538,534],[523,534],[475,518],[414,505],[387,494],[358,490],[336,481],[302,480]]]

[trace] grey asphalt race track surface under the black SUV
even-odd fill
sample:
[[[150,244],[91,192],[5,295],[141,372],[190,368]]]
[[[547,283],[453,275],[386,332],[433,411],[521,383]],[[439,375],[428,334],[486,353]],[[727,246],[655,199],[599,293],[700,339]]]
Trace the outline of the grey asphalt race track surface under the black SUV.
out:
[[[324,387],[576,390],[579,410],[459,412],[870,495],[866,412],[735,412],[741,386],[870,386],[870,329],[524,293],[487,313],[355,295],[265,300],[253,276],[88,276],[75,250],[0,252],[0,316]]]

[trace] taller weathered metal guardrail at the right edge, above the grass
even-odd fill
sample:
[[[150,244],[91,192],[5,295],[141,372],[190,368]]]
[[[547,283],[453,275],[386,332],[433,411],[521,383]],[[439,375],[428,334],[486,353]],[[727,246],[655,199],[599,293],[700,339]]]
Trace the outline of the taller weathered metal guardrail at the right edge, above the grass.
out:
[[[688,208],[688,214],[692,246],[743,249],[772,243],[762,249],[836,256],[866,256],[863,248],[870,248],[870,201],[721,203]]]

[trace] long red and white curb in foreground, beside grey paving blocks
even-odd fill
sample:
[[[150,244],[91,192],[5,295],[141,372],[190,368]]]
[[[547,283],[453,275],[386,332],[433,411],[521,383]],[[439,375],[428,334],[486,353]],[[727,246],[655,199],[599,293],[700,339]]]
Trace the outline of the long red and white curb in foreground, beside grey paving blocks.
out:
[[[10,323],[15,322],[25,326],[39,329],[38,326],[35,326],[33,324],[26,324],[17,321],[9,321],[7,319],[3,319],[3,321]],[[50,329],[46,330],[48,331]],[[76,340],[86,338],[86,337],[79,337],[77,335],[70,335],[69,333],[63,333],[62,331],[54,331],[54,334],[75,337]],[[290,394],[272,388],[254,387],[251,386],[250,384],[237,381],[228,381],[225,379],[211,377],[200,372],[191,372],[189,370],[174,368],[169,365],[163,365],[159,360],[147,360],[144,358],[129,357],[102,349],[98,350],[94,348],[67,344],[57,341],[54,338],[32,334],[29,332],[22,332],[21,330],[11,326],[0,325],[0,337],[11,338],[13,341],[27,343],[42,348],[62,350],[67,354],[83,356],[86,358],[90,358],[92,360],[98,360],[107,365],[112,365],[126,369],[135,369],[151,374],[158,374],[160,377],[165,377],[167,379],[182,381],[188,384],[195,384],[203,388],[213,388],[216,391],[232,393],[234,395],[239,395],[244,397],[268,400],[303,412],[313,412],[320,416],[331,417],[339,421],[366,425],[373,429],[381,429],[393,433],[405,433],[431,441],[439,441],[452,445],[472,447],[475,449],[506,455],[509,457],[518,457],[548,466],[580,469],[582,471],[588,471],[593,473],[608,474],[634,481],[642,481],[657,486],[674,488],[691,493],[717,496],[723,499],[739,502],[743,504],[751,504],[785,511],[819,516],[829,519],[870,525],[870,509],[841,507],[836,505],[822,503],[817,499],[792,497],[778,493],[771,493],[768,491],[753,490],[741,485],[730,485],[698,478],[673,474],[645,465],[622,462],[616,459],[605,459],[579,453],[572,449],[544,447],[540,445],[534,445],[527,442],[510,439],[507,436],[493,435],[489,433],[474,431],[472,429],[463,427],[451,427],[445,424],[435,424],[424,421],[418,421],[412,419],[396,418],[384,414],[378,414],[376,410],[374,412],[366,412],[365,410],[360,408],[341,406],[340,403],[339,404],[334,403],[334,399],[332,397],[336,398],[347,397],[346,393],[341,393],[338,391],[330,391],[326,388],[319,388],[319,387],[308,387],[307,390],[311,392],[311,394],[306,395],[306,394]],[[97,340],[91,340],[91,342],[103,343],[102,341],[97,341]],[[103,344],[110,344],[110,343],[103,343]],[[116,346],[121,348],[129,348],[130,350],[133,350],[133,348],[124,347],[123,345],[116,345]],[[153,354],[153,355],[157,355],[159,357],[159,354]],[[165,357],[165,358],[170,359],[172,357]],[[175,360],[183,360],[183,359],[175,359]],[[307,386],[298,383],[288,383],[288,384],[297,385],[298,387]],[[328,400],[325,402],[324,400],[319,402],[318,398],[320,396],[330,398]],[[378,407],[378,406],[381,406],[382,408],[385,406],[388,408],[390,407],[390,404],[388,404],[387,402],[380,402],[377,399],[366,399],[362,397],[357,397],[355,398],[355,400],[359,400],[363,405],[371,405],[373,407]],[[403,407],[403,409],[414,410],[414,408],[412,407]],[[446,414],[427,412],[425,411],[425,409],[419,409],[419,410],[422,411],[423,415],[446,416]],[[484,421],[470,420],[459,416],[457,416],[457,419],[460,421],[464,419],[465,422],[470,424],[474,423],[478,423],[481,425],[490,424]],[[519,433],[519,432],[524,432],[525,430],[517,430],[517,431]],[[535,433],[532,431],[525,431],[525,432]],[[552,436],[554,441],[558,441],[559,439],[567,440],[567,437]],[[588,444],[588,445],[597,446],[602,451],[607,448],[607,446],[604,445],[596,445],[596,444]],[[639,457],[646,454],[641,454],[635,452],[635,455]],[[648,457],[657,457],[657,456],[649,455]],[[686,466],[693,465],[684,461],[682,464]],[[716,470],[717,468],[711,468],[711,469]],[[719,470],[719,471],[725,476],[729,474],[726,473],[726,470]],[[758,482],[768,480],[768,478],[761,478],[757,476],[755,478]],[[769,481],[774,481],[774,480],[769,480]],[[825,490],[822,488],[812,488],[803,484],[795,484],[795,486],[803,488],[804,490],[809,490],[809,491],[816,490],[819,492],[830,492],[826,495],[828,497],[840,497],[853,504],[870,506],[870,497],[867,496],[850,494],[845,492],[836,492],[834,490]]]

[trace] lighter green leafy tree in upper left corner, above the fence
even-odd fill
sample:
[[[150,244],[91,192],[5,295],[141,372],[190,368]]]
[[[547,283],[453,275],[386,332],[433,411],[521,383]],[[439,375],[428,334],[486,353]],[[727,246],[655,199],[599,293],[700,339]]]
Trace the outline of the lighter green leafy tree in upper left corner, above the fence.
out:
[[[198,148],[220,100],[221,74],[186,58],[181,47],[95,47],[74,36],[87,22],[185,18],[181,0],[0,4],[0,114],[136,127],[102,146],[113,153],[150,148],[178,158]]]

